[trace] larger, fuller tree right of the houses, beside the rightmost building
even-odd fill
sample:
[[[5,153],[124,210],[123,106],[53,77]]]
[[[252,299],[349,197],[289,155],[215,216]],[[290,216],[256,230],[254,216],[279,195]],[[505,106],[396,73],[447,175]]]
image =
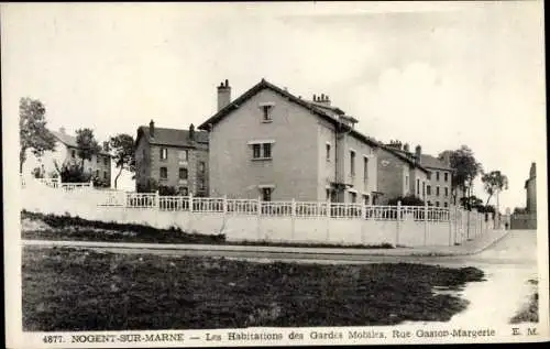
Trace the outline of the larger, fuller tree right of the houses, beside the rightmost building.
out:
[[[455,151],[446,151],[439,155],[440,160],[444,160],[446,153],[449,155],[451,167],[454,170],[451,177],[451,192],[457,198],[457,190],[462,190],[463,197],[469,197],[466,190],[472,189],[475,177],[483,171],[472,150],[468,145],[462,145]]]

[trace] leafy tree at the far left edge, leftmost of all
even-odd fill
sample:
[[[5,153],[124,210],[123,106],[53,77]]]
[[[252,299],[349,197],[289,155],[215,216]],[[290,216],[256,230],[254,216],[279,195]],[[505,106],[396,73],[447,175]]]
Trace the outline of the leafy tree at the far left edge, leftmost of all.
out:
[[[31,150],[35,156],[42,156],[45,151],[55,149],[55,138],[46,129],[46,108],[37,99],[29,97],[19,101],[19,173],[23,173],[23,163],[26,151]]]

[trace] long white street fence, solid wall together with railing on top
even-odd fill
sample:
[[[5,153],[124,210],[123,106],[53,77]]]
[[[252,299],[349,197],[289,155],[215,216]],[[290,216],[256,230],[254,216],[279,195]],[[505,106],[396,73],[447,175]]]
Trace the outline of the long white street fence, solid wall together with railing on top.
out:
[[[69,212],[92,220],[161,229],[178,227],[206,235],[223,233],[228,241],[452,246],[494,228],[493,221],[486,220],[484,215],[455,207],[263,201],[260,198],[77,190],[89,187],[89,184],[72,185],[73,189],[47,190],[48,184],[45,184],[29,186],[25,197],[30,199],[24,201],[25,207],[43,212]],[[46,190],[41,193],[40,188]],[[45,198],[45,195],[51,197]]]

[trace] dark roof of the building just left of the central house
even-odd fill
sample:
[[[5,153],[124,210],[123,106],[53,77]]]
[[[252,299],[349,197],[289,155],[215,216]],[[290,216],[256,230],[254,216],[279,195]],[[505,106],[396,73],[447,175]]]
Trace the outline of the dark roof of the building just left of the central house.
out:
[[[150,128],[147,126],[141,126],[138,129],[138,139],[135,140],[135,144],[140,142],[141,137],[145,137],[148,140],[150,144],[157,145],[168,145],[168,146],[195,146],[195,142],[193,142],[189,138],[188,130],[179,130],[179,129],[166,129],[166,128],[157,128],[155,127],[154,137],[150,134]],[[195,141],[198,143],[208,144],[208,132],[205,131],[195,131]]]

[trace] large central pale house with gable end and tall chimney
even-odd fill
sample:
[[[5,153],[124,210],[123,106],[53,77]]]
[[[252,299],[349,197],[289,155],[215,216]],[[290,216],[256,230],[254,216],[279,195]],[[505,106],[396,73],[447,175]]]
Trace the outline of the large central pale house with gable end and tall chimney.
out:
[[[226,80],[218,111],[199,126],[209,132],[210,195],[371,204],[378,144],[356,122],[323,94],[306,100],[262,79],[231,100]]]

